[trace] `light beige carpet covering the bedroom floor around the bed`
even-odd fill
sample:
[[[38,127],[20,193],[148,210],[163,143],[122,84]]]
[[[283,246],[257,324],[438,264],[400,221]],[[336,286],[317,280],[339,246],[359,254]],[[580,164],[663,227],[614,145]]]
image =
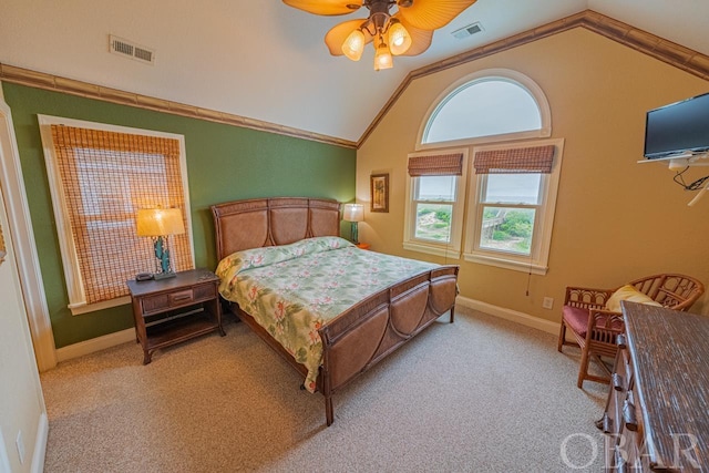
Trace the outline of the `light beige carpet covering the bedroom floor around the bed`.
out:
[[[600,471],[607,387],[578,349],[465,308],[323,398],[230,317],[158,350],[125,343],[42,373],[47,472]],[[580,467],[584,466],[584,467]]]

